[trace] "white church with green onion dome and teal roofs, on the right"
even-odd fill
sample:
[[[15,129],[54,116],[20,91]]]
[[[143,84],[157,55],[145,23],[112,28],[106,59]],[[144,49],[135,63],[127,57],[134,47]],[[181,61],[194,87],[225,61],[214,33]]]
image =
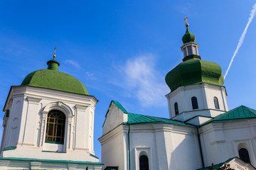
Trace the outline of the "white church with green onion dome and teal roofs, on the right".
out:
[[[99,139],[102,169],[255,169],[256,111],[228,110],[220,66],[201,60],[185,26],[183,62],[166,74],[169,118],[129,113],[111,101]]]

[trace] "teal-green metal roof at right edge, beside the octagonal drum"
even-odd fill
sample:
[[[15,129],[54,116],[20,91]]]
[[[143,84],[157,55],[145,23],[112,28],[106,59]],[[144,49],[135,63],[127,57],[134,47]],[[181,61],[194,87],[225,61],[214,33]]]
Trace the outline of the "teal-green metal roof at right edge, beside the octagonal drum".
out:
[[[238,108],[234,108],[231,111],[228,111],[226,113],[216,116],[211,120],[208,120],[206,123],[203,123],[202,125],[214,122],[224,122],[230,120],[242,120],[250,118],[256,118],[256,111],[246,106],[239,106]]]

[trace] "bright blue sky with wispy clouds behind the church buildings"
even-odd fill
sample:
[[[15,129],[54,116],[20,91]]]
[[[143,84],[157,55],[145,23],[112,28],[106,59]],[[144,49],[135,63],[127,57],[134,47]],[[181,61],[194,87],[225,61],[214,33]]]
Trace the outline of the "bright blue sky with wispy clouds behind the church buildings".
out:
[[[182,62],[184,16],[202,60],[217,62],[225,74],[255,2],[0,1],[0,107],[10,86],[47,68],[56,45],[59,71],[78,78],[99,100],[100,157],[97,138],[111,100],[131,113],[168,118],[164,77]],[[253,20],[225,79],[229,109],[256,109],[255,29]]]

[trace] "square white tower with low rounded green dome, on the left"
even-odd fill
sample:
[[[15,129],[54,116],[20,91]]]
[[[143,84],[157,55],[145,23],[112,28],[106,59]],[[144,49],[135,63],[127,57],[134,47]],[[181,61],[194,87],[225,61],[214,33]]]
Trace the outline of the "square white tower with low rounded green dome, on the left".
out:
[[[11,86],[4,106],[0,169],[101,169],[93,150],[97,98],[59,62]]]

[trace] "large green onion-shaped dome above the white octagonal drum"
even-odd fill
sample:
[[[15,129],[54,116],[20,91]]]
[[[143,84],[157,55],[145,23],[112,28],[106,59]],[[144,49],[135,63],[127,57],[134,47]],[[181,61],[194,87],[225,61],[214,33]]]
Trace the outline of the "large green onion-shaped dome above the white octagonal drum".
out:
[[[214,84],[223,86],[224,78],[220,65],[215,62],[201,60],[198,55],[190,55],[183,59],[168,74],[166,74],[166,84],[171,91],[179,86],[192,84]]]

